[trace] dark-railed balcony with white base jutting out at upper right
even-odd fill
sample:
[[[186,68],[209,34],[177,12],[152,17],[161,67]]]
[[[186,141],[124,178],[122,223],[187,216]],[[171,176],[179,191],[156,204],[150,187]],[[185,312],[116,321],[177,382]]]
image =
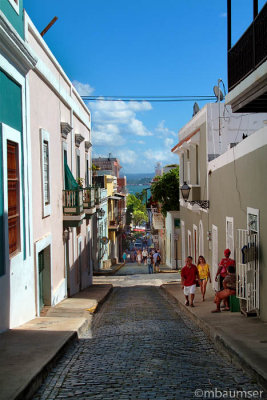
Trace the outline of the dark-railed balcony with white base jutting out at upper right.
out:
[[[267,3],[238,42],[228,51],[230,93],[226,97],[226,102],[232,105],[234,112],[267,111],[266,37]],[[242,86],[239,88],[241,82]]]

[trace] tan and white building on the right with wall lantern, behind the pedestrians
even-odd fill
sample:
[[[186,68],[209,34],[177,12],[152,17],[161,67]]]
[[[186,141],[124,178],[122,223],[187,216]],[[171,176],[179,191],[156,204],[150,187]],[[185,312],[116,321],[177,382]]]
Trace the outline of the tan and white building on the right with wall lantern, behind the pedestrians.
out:
[[[219,115],[223,116],[220,123]],[[207,104],[180,130],[179,143],[172,149],[180,159],[180,189],[190,188],[186,200],[180,196],[182,260],[191,255],[196,263],[199,255],[204,255],[214,289],[225,248],[232,250],[237,263],[244,261],[242,251],[258,249],[258,245],[266,248],[265,189],[261,184],[266,169],[266,119],[266,114],[234,115],[229,106]],[[254,261],[256,272],[250,279],[259,285],[265,262]],[[246,278],[242,274],[238,296],[253,290],[253,310],[248,311],[256,311],[266,320],[261,291],[258,286],[248,286],[249,274]]]

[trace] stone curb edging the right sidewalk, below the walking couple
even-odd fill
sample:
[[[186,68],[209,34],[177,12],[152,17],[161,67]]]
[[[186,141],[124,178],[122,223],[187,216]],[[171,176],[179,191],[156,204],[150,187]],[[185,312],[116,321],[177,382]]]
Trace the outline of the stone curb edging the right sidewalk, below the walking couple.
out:
[[[252,378],[255,379],[259,385],[267,390],[267,379],[264,376],[264,373],[262,374],[260,371],[257,371],[245,354],[242,354],[238,348],[233,347],[232,343],[227,340],[227,338],[225,338],[216,327],[207,324],[197,315],[193,314],[188,307],[181,303],[179,299],[169,293],[168,289],[164,287],[164,285],[161,285],[160,289],[170,300],[175,301],[179,309],[183,311],[193,322],[196,323],[199,328],[201,328],[208,335],[210,340],[214,342],[217,350],[223,356],[226,356],[229,361],[243,369],[247,374],[252,376]]]

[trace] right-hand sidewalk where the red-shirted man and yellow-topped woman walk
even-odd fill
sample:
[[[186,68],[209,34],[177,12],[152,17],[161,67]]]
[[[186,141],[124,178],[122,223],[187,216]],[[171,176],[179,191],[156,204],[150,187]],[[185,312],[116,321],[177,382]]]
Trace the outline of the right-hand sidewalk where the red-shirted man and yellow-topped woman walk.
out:
[[[197,288],[194,308],[184,305],[185,298],[180,285],[165,284],[161,288],[208,334],[219,351],[252,374],[267,390],[267,323],[256,317],[246,318],[239,312],[212,314],[211,310],[216,307],[210,285],[204,302]]]

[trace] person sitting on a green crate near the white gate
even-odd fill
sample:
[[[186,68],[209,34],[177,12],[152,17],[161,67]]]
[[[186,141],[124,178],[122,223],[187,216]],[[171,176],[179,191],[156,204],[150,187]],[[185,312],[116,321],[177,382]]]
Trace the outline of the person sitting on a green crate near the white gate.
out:
[[[235,295],[236,293],[236,274],[235,267],[229,265],[227,268],[227,276],[223,280],[223,290],[219,291],[215,295],[214,303],[216,304],[216,309],[212,313],[221,312],[221,301],[223,300],[225,308],[223,311],[230,311],[229,307],[229,297]]]

